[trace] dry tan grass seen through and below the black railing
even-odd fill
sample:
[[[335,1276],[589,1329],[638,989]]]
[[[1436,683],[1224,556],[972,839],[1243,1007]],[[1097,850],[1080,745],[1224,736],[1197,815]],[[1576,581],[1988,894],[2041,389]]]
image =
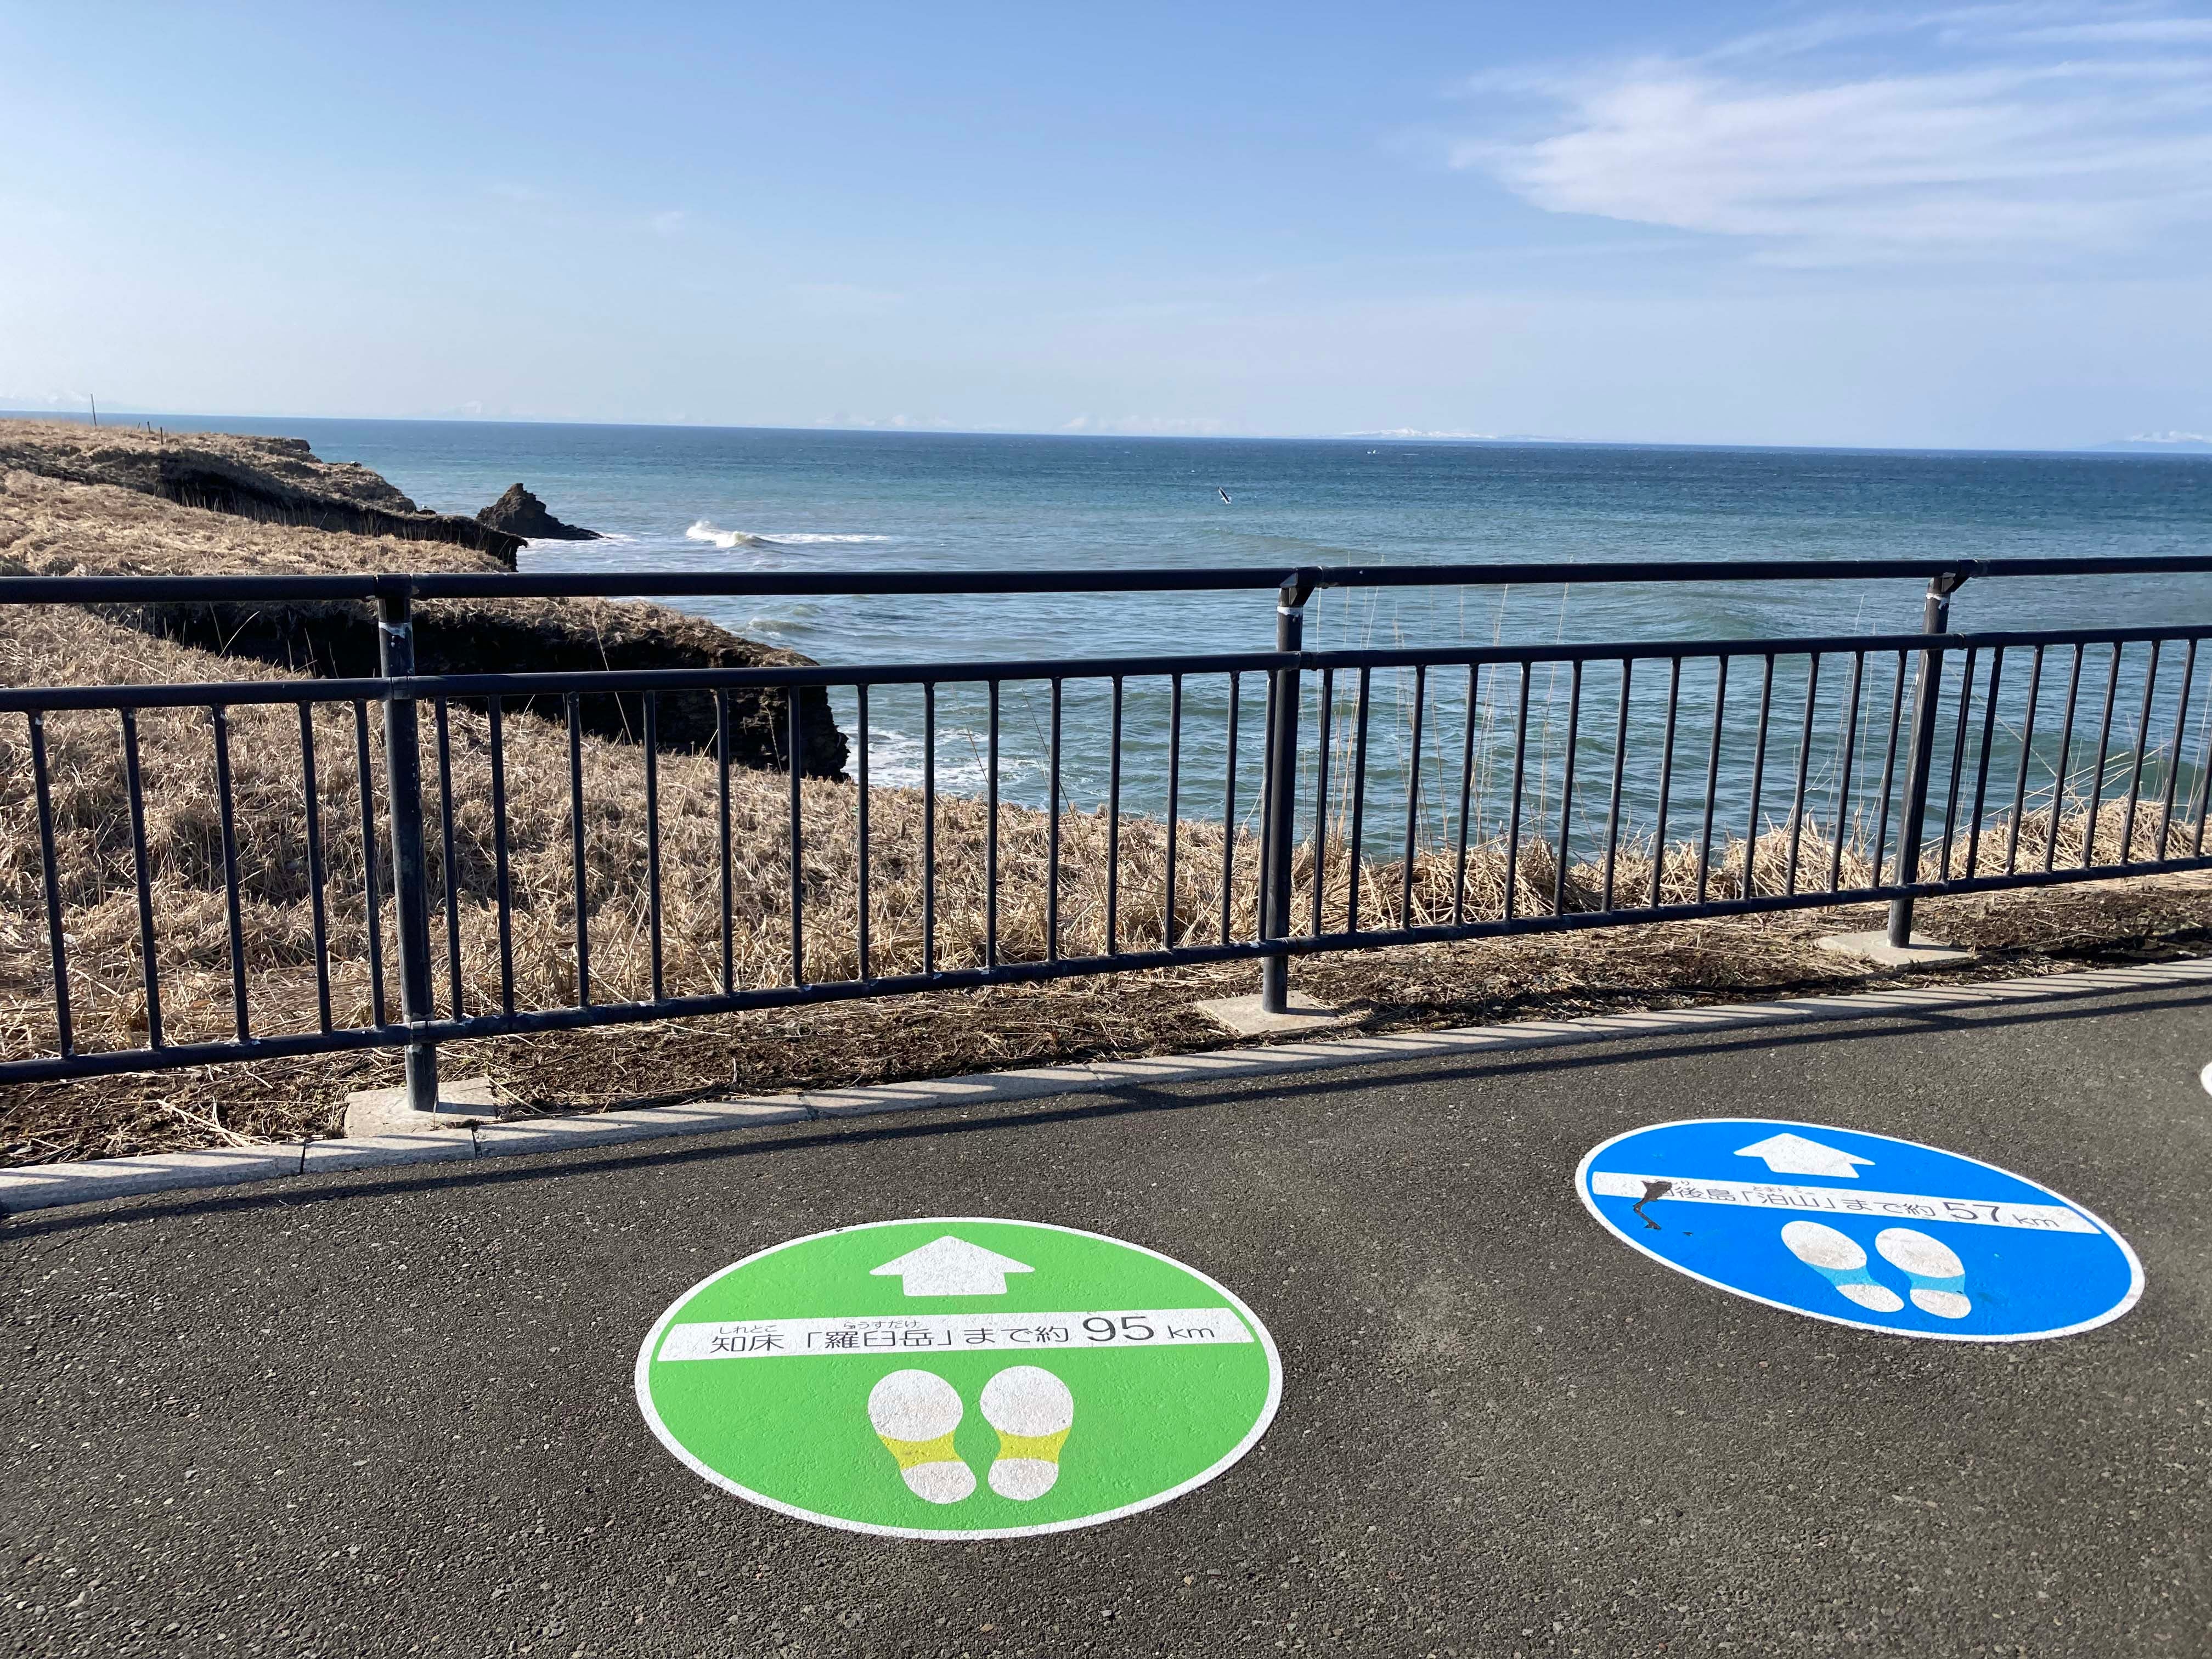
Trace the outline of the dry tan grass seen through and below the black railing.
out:
[[[208,657],[75,611],[22,611],[0,628],[0,681],[7,684],[148,684],[164,679],[285,679],[279,670]],[[471,1011],[498,1004],[495,865],[487,717],[453,710],[453,872],[462,945],[462,998]],[[71,956],[77,1042],[84,1048],[139,1046],[146,1006],[139,989],[137,898],[131,821],[124,794],[117,723],[111,714],[55,714],[46,723],[53,810],[60,843],[60,891]],[[316,803],[327,860],[327,931],[332,1015],[363,1024],[374,989],[367,964],[363,838],[356,728],[349,708],[314,717]],[[230,953],[223,905],[221,814],[212,741],[204,710],[148,710],[139,717],[146,779],[146,841],[157,911],[164,1026],[170,1042],[228,1037]],[[584,832],[593,995],[602,1002],[650,993],[646,883],[644,754],[635,745],[586,739]],[[383,754],[376,710],[369,710],[372,790],[380,790]],[[431,878],[442,883],[438,845],[436,761],[425,752],[431,790]],[[664,754],[661,905],[664,984],[668,993],[712,991],[721,982],[721,887],[717,765],[710,757]],[[248,964],[248,1009],[257,1033],[312,1031],[314,947],[303,812],[299,723],[292,708],[232,712],[232,790],[237,803],[241,922]],[[511,717],[507,723],[509,856],[513,883],[513,973],[518,1006],[562,1006],[577,993],[575,907],[571,878],[568,745],[557,726]],[[810,980],[849,978],[858,969],[858,796],[852,785],[807,781],[803,803],[803,938]],[[790,982],[787,783],[779,774],[732,770],[734,967],[739,987]],[[380,810],[378,810],[380,812]],[[2119,841],[2124,807],[2099,821],[2099,852]],[[2022,863],[2042,860],[2051,814],[2022,825]],[[20,719],[0,723],[0,1053],[49,1053],[53,1046],[46,978],[44,883],[38,863],[35,801]],[[2059,863],[2077,860],[2081,814],[2059,814]],[[967,967],[984,942],[982,803],[938,803],[936,962]],[[2157,856],[2161,825],[2139,812],[2137,856]],[[1106,821],[1095,812],[1062,818],[1062,953],[1084,956],[1104,945]],[[1982,863],[2004,858],[2006,832],[1984,836]],[[1024,807],[1000,810],[1000,956],[1037,960],[1046,951],[1048,821]],[[1221,916],[1219,825],[1186,823],[1179,832],[1179,936],[1217,936]],[[1787,836],[1759,838],[1754,891],[1781,891],[1787,880]],[[1933,849],[1927,869],[1933,872]],[[1966,849],[1953,847],[1964,872]],[[1237,841],[1239,880],[1232,927],[1252,929],[1256,845]],[[1827,843],[1807,834],[1798,852],[1801,885],[1825,883]],[[1469,916],[1500,914],[1504,849],[1482,845],[1469,856]],[[1708,894],[1732,898],[1743,885],[1743,843],[1717,845]],[[1352,867],[1343,852],[1327,860],[1325,914],[1340,925]],[[1652,852],[1626,845],[1615,867],[1617,894],[1648,894]],[[1863,852],[1845,849],[1845,885],[1869,878]],[[1383,927],[1398,918],[1402,867],[1363,867],[1363,918]],[[1310,894],[1312,856],[1298,854],[1298,885]],[[911,790],[876,790],[869,834],[872,971],[922,967],[922,803]],[[1453,858],[1425,854],[1413,872],[1413,920],[1449,920]],[[1595,909],[1604,872],[1566,872],[1566,909]],[[1661,869],[1668,900],[1694,896],[1697,856],[1670,845]],[[380,876],[389,894],[389,876]],[[2059,945],[2075,960],[2112,940],[2212,925],[2212,898],[2197,887],[2148,885],[2104,896],[2008,896],[2004,905],[1947,907],[1958,918],[2035,909],[2042,918],[2020,933]],[[1298,905],[1305,927],[1307,902]],[[1553,905],[1551,852],[1531,843],[1520,860],[1520,914]],[[1865,909],[1865,907],[1860,907]],[[1157,942],[1166,929],[1166,830],[1124,818],[1119,847],[1119,936],[1124,945]],[[1931,909],[1931,916],[1936,911]],[[2088,918],[2088,922],[2084,922]],[[383,905],[387,1006],[398,1006],[392,975],[392,905]],[[1365,1004],[1378,1024],[1495,1015],[1526,1006],[1548,1011],[1608,1006],[1621,995],[1641,1002],[1741,995],[1759,989],[1827,984],[1851,978],[1809,949],[1834,914],[1790,914],[1739,922],[1670,925],[1557,933],[1489,945],[1396,949],[1369,958],[1301,962],[1301,982],[1340,1004]],[[1858,925],[1869,925],[1858,920]],[[2042,929],[2037,933],[2037,929]],[[2002,931],[2002,929],[2000,929]],[[447,1004],[447,933],[434,916],[438,1000]],[[2013,949],[2022,949],[2015,940]],[[2135,949],[2135,947],[2128,947]],[[520,1106],[577,1108],[635,1095],[701,1088],[803,1086],[931,1075],[991,1064],[1060,1060],[1077,1053],[1144,1053],[1203,1046],[1217,1040],[1190,1013],[1199,995],[1245,989],[1250,964],[1177,969],[1115,980],[1082,980],[1037,989],[1000,989],[568,1033],[531,1040],[487,1040],[449,1057],[449,1066],[491,1068]],[[7,1161],[84,1157],[206,1144],[223,1137],[327,1133],[345,1086],[385,1077],[389,1055],[345,1055],[276,1068],[212,1068],[15,1088],[0,1102],[0,1148]]]

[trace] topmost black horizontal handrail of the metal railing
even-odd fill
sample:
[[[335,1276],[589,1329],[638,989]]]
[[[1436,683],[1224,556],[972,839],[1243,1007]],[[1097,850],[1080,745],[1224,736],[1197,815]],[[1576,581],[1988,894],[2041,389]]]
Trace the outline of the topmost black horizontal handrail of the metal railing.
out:
[[[531,571],[500,575],[18,575],[0,604],[677,599],[916,593],[1225,593],[1601,582],[1869,582],[2028,575],[2212,575],[2212,553],[2017,560],[1551,560],[1502,564],[1194,564],[1053,571]]]

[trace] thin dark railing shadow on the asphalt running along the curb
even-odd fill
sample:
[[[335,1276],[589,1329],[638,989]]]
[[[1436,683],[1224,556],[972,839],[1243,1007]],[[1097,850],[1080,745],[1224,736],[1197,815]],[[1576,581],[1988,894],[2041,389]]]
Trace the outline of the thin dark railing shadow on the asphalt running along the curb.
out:
[[[1617,1040],[1597,1040],[1588,1044],[1562,1044],[1555,1048],[1517,1048],[1504,1055],[1462,1055],[1447,1062],[1420,1064],[1418,1057],[1402,1062],[1376,1060],[1371,1064],[1360,1064],[1356,1068],[1338,1066],[1323,1073],[1276,1073],[1261,1077],[1223,1077],[1219,1082],[1177,1082],[1164,1086],[1128,1086],[1099,1091],[1084,1097],[1079,1106],[1055,1106],[1046,1110],[1024,1110],[1020,1106],[1011,1110],[998,1110],[989,1117],[953,1115],[973,1108],[942,1106],[916,1113],[885,1113],[891,1121],[876,1121],[869,1117],[852,1119],[814,1119],[812,1124],[794,1124],[787,1133],[772,1137],[754,1137],[737,1144],[717,1141],[712,1137],[699,1137],[697,1141],[684,1139],[681,1144],[666,1141],[644,1141],[630,1144],[626,1148],[608,1148],[604,1152],[546,1152],[546,1155],[524,1155],[498,1161],[478,1164],[436,1164],[427,1166],[418,1175],[400,1177],[376,1177],[376,1179],[354,1179],[343,1175],[323,1177],[327,1186],[303,1188],[299,1179],[290,1179],[283,1186],[263,1186],[250,1190],[232,1190],[223,1194],[208,1194],[199,1199],[161,1199],[161,1201],[133,1201],[117,1199],[108,1206],[86,1212],[69,1214],[24,1214],[4,1217],[0,1214],[0,1239],[35,1239],[49,1234],[80,1232],[86,1228],[104,1228],[119,1221],[135,1221],[142,1217],[206,1217],[206,1214],[228,1214],[234,1210],[265,1210],[265,1208],[307,1208],[316,1203],[334,1203],[347,1199],[365,1197],[389,1197],[396,1192],[429,1192],[451,1186],[511,1186],[526,1181],[557,1181],[571,1175],[588,1175],[595,1170],[637,1170],[655,1166],[679,1166],[679,1164],[712,1164],[723,1159],[750,1159],[768,1157],[776,1152],[792,1152],[821,1146],[849,1146],[865,1141],[902,1141],[902,1139],[936,1139],[945,1135],[989,1135],[1000,1130],[1018,1128],[1046,1128],[1053,1124],[1082,1124],[1093,1119],[1110,1117],[1139,1117],[1150,1113],[1188,1113],[1203,1110],[1206,1106],[1221,1104],[1225,1099],[1243,1097],[1252,1091],[1265,1091],[1274,1099],[1310,1099],[1316,1095],[1340,1093],[1345,1088],[1367,1088],[1374,1084],[1374,1068],[1389,1068],[1391,1086],[1407,1084],[1440,1084],[1455,1079],[1478,1079],[1478,1077],[1515,1077],[1528,1073],[1557,1073],[1557,1071],[1597,1071],[1606,1066],[1628,1066],[1641,1060],[1681,1060],[1688,1055],[1728,1055],[1728,1053],[1756,1053],[1765,1048],[1798,1046],[1798,1044],[1838,1044],[1838,1042],[1869,1042],[1880,1037],[1902,1037],[1902,1035],[1924,1035],[1929,1031],[1962,1031],[1962,1029],[1989,1029],[1989,1026],[2026,1026],[2026,1024],[2057,1024],[2073,1020],[2104,1020],[2115,1013],[2128,1013],[2141,1006],[2159,1009],[2201,1009],[2212,1006],[2212,991],[2192,989],[2183,993],[2172,991],[2146,991],[2146,993],[2121,993],[2119,1000],[2108,993],[2095,993],[2097,1000],[2090,1006],[2051,1006],[2037,1004],[2033,1009],[2006,1009],[1995,1006],[1973,1006],[1973,1009],[1944,1009],[1944,1011],[1900,1011],[1898,1015],[1882,1015],[1878,1020],[1854,1020],[1851,1024],[1792,1024],[1778,1029],[1756,1029],[1743,1033],[1714,1033],[1710,1037],[1699,1037],[1694,1042],[1668,1042],[1655,1037],[1621,1035]],[[1396,1035],[1396,1033],[1394,1033]],[[1418,1033],[1402,1033],[1418,1035]],[[1172,1093],[1170,1093],[1172,1091]],[[1053,1099],[1044,1095],[1040,1099]],[[560,1161],[549,1161],[560,1159]]]

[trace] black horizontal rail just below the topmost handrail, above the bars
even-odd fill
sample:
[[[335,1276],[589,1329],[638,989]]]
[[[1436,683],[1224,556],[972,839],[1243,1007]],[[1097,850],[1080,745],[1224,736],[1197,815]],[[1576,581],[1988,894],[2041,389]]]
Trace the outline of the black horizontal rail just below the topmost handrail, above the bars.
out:
[[[2212,624],[2159,628],[2037,628],[2008,633],[1809,635],[1785,639],[1610,639],[1593,644],[1440,644],[1360,650],[1223,650],[1179,657],[1004,657],[989,661],[816,664],[810,668],[575,668],[524,675],[398,675],[392,679],[239,679],[164,686],[0,688],[0,714],[84,708],[210,708],[252,703],[376,703],[385,695],[608,697],[774,686],[960,686],[1046,679],[1166,679],[1168,675],[1259,675],[1279,668],[1411,668],[1427,664],[1668,661],[1710,657],[1838,657],[1905,650],[2022,650],[2035,646],[2135,646],[2212,637]]]

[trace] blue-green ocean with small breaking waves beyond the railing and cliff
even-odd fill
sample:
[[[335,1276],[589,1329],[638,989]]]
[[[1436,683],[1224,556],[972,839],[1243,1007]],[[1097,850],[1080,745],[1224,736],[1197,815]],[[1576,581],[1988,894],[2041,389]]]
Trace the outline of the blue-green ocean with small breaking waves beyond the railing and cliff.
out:
[[[1385,440],[1177,440],[909,431],[768,431],[425,420],[181,420],[307,438],[327,460],[374,467],[422,507],[473,513],[513,482],[606,542],[533,544],[538,571],[1095,571],[1117,564],[1433,564],[1460,560],[1823,560],[2212,553],[2212,460],[2190,456],[1692,449]],[[1265,650],[1274,595],[989,595],[690,599],[688,608],[825,664],[922,664],[1064,655]],[[2124,626],[2212,619],[2212,577],[1986,580],[1953,628]],[[1920,626],[1916,582],[1739,582],[1725,586],[1387,588],[1327,593],[1307,613],[1314,648],[1460,641],[1723,639],[1898,633]],[[2132,672],[2132,670],[2130,670]],[[2172,664],[2159,681],[2170,690]],[[1871,672],[1869,672],[1871,677]],[[1745,675],[1743,679],[1750,679]],[[2130,681],[2132,684],[2132,681]],[[2212,675],[2199,675],[2199,686]],[[1597,686],[1593,695],[1615,692]],[[2179,688],[2172,688],[2179,695]],[[1259,681],[1245,686],[1239,790],[1256,794]],[[1347,692],[1349,695],[1349,692]],[[1374,783],[1402,785],[1407,686],[1378,686]],[[1425,752],[1458,763],[1451,710],[1431,688]],[[1540,675],[1540,743],[1557,732],[1562,679]],[[1743,695],[1743,686],[1734,695]],[[1776,688],[1787,708],[1792,686]],[[1871,692],[1869,692],[1871,695]],[[1044,796],[1046,692],[1011,686],[1009,799]],[[2017,699],[2017,688],[2013,690]],[[1225,759],[1225,684],[1192,684],[1186,779]],[[1482,699],[1478,699],[1480,703]],[[1387,703],[1387,708],[1385,708]],[[980,790],[980,692],[947,688],[936,714],[938,785]],[[1130,684],[1124,801],[1166,799],[1166,690]],[[2006,708],[2004,728],[2017,726]],[[852,697],[838,699],[852,730]],[[1102,686],[1071,684],[1066,799],[1108,783]],[[1500,734],[1478,710],[1484,763]],[[1630,748],[1657,745],[1663,710],[1639,688]],[[1608,719],[1593,721],[1608,726]],[[1343,726],[1343,721],[1338,721]],[[1511,721],[1506,721],[1511,726]],[[1588,732],[1577,739],[1593,743]],[[2002,739],[2000,739],[2002,741]],[[1834,734],[1823,734],[1836,763]],[[1610,745],[1610,732],[1601,734]],[[918,697],[878,692],[872,781],[920,779]],[[1867,765],[1860,759],[1860,770]],[[1248,774],[1245,774],[1245,768]],[[1650,768],[1630,770],[1630,818],[1648,818]],[[2157,768],[2152,768],[2152,774]],[[1431,776],[1436,776],[1431,772]],[[1535,772],[1540,787],[1544,772]],[[1854,779],[1865,787],[1865,779]],[[1827,790],[1840,787],[1827,776]],[[1427,790],[1427,785],[1425,785]],[[1433,794],[1433,799],[1429,799]],[[1425,794],[1442,812],[1449,792]],[[1747,761],[1723,757],[1719,799],[1750,794]],[[1179,799],[1192,812],[1190,799]],[[1248,807],[1239,810],[1245,816]]]

